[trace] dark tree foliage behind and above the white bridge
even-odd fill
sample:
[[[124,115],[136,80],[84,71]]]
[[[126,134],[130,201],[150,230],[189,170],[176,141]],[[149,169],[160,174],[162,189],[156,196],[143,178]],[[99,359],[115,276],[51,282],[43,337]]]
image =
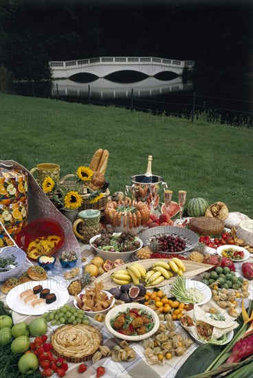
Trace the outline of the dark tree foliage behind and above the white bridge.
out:
[[[160,56],[195,60],[199,74],[250,70],[248,3],[1,0],[0,63],[48,78],[49,60]]]

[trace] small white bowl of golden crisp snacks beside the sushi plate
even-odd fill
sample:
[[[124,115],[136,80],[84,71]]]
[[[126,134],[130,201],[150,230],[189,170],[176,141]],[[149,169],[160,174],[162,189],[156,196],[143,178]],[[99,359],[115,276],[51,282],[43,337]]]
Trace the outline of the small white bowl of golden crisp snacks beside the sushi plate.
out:
[[[74,298],[74,306],[83,310],[86,315],[94,318],[96,314],[105,315],[115,302],[115,298],[109,291],[104,291],[102,282],[95,282],[94,288],[83,289]]]

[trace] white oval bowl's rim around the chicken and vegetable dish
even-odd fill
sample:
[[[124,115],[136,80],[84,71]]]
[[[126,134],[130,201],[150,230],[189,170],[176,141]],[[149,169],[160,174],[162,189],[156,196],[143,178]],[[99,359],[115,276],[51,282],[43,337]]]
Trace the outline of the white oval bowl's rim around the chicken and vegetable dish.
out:
[[[151,329],[151,331],[149,331],[148,333],[145,333],[144,335],[137,335],[137,336],[123,335],[122,333],[115,331],[115,329],[113,329],[113,327],[111,326],[110,320],[115,318],[118,315],[118,313],[126,311],[126,309],[146,310],[147,313],[150,313],[152,315],[153,322],[154,322],[153,329]],[[122,339],[122,340],[129,340],[131,342],[140,342],[141,340],[151,337],[159,329],[159,324],[160,322],[159,322],[157,313],[155,313],[155,311],[145,306],[144,304],[139,304],[139,303],[119,304],[118,306],[113,307],[113,309],[111,309],[105,317],[105,325],[107,326],[108,331],[113,334],[113,336],[118,337],[119,339]]]

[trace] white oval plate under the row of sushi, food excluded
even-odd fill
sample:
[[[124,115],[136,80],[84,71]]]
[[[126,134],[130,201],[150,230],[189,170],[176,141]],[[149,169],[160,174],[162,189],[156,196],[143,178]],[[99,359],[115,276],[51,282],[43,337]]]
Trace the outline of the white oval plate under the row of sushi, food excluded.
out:
[[[20,294],[28,289],[33,289],[34,286],[41,285],[43,289],[50,289],[50,293],[54,293],[56,295],[56,301],[50,304],[43,304],[42,307],[33,308],[32,304],[25,304],[25,302],[20,298]],[[39,299],[39,294],[37,294]],[[22,313],[23,315],[42,315],[43,313],[58,309],[58,307],[63,306],[63,304],[67,303],[69,299],[69,292],[67,291],[66,287],[61,287],[61,285],[53,280],[45,280],[45,281],[29,281],[25,282],[21,285],[18,285],[11,289],[6,296],[6,303],[13,311],[17,313]]]

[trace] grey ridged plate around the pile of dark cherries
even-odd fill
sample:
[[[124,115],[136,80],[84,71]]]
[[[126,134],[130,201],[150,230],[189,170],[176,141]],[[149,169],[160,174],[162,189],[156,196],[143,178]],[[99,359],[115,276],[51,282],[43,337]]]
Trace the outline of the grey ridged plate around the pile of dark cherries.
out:
[[[158,226],[150,228],[144,232],[141,232],[138,236],[143,241],[143,245],[149,245],[153,238],[159,238],[162,235],[171,235],[171,236],[180,236],[180,238],[186,241],[186,247],[184,251],[181,252],[173,252],[175,254],[184,254],[192,250],[197,243],[199,243],[199,236],[188,230],[188,228],[183,227],[175,227],[175,226]],[[169,252],[161,252],[163,254],[170,255]]]

